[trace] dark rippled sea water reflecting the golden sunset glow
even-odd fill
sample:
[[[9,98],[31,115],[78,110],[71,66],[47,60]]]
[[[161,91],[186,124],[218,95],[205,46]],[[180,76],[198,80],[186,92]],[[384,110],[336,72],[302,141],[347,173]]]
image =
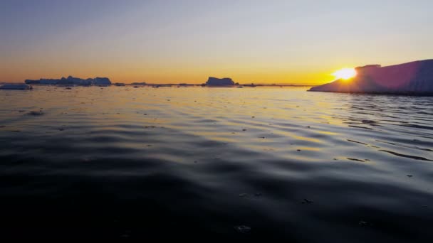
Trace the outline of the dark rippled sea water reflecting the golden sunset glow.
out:
[[[305,90],[0,90],[0,237],[433,239],[433,97]]]

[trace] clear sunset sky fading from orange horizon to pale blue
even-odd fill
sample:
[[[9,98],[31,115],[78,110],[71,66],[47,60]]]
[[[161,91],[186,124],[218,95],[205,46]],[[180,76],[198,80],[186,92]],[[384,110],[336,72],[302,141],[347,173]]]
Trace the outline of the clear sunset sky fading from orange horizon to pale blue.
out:
[[[433,58],[433,1],[0,0],[0,81],[318,85]]]

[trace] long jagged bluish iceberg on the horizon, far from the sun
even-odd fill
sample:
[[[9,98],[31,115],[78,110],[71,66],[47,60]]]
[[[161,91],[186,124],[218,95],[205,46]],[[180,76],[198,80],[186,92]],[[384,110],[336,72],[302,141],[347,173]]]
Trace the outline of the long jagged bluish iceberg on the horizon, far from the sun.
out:
[[[41,78],[40,80],[26,80],[25,82],[26,84],[39,84],[39,85],[83,85],[83,86],[111,85],[111,81],[110,79],[108,79],[108,77],[95,77],[95,78],[88,78],[87,80],[83,80],[79,77],[69,76],[67,78],[62,77],[60,80]]]

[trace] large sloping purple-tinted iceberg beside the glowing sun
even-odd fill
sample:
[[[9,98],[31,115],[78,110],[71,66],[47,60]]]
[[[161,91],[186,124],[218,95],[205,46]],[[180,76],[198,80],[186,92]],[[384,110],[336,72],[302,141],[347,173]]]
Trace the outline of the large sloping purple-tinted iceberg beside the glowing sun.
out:
[[[351,80],[335,80],[309,91],[395,93],[412,95],[433,94],[433,60],[422,60],[381,67],[367,65],[356,68],[357,76]]]

